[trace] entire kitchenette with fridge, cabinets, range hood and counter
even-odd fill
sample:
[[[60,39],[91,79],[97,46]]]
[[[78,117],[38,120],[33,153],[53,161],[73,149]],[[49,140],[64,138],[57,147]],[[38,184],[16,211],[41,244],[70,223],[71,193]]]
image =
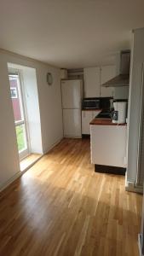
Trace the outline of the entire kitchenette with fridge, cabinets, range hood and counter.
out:
[[[118,59],[118,76],[116,65],[71,70],[69,80],[62,70],[61,93],[64,137],[90,137],[95,172],[124,175],[130,50],[121,51]]]

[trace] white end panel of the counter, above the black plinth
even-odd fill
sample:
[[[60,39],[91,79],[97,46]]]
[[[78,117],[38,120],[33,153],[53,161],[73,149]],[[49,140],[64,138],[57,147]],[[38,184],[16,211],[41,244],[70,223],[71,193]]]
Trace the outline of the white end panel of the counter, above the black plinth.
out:
[[[126,125],[90,125],[90,147],[93,164],[126,167]]]

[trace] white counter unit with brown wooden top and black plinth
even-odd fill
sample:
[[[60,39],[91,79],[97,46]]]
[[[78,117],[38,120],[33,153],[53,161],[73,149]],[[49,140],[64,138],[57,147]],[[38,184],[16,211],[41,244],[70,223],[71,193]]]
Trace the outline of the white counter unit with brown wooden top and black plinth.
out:
[[[95,164],[95,172],[124,174],[127,125],[96,118],[89,125],[91,162]]]

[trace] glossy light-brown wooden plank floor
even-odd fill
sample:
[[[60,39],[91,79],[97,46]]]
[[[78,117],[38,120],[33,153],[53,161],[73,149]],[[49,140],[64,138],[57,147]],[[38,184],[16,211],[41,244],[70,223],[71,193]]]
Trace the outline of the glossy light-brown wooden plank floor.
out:
[[[64,139],[0,194],[0,256],[138,256],[141,195]]]

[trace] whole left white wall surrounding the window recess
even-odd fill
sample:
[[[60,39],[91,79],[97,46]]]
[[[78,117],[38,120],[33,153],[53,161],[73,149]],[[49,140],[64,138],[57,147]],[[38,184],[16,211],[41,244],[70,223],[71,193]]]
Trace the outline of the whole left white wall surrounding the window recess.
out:
[[[9,90],[8,62],[36,68],[43,152],[47,152],[63,137],[60,69],[0,50],[0,188],[20,172],[14,113]],[[48,72],[51,72],[54,77],[54,84],[51,87],[46,81]]]

